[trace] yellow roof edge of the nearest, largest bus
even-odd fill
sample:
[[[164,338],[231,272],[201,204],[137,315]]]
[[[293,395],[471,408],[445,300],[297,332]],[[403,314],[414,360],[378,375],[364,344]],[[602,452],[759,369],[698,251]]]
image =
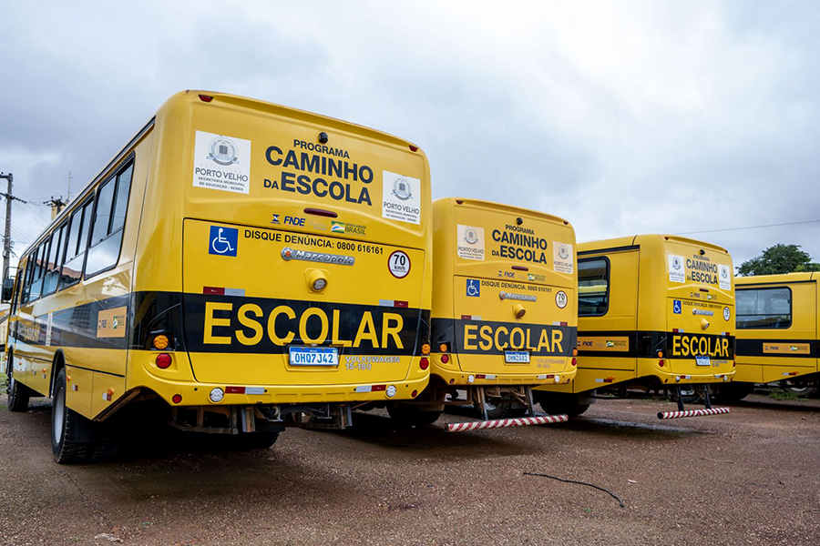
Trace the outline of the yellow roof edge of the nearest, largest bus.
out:
[[[406,147],[411,147],[411,148],[414,148],[414,147],[418,148],[413,143],[411,143],[410,141],[405,140],[403,138],[399,138],[398,136],[390,135],[388,133],[384,133],[382,131],[372,129],[372,128],[367,127],[367,126],[360,126],[358,124],[354,124],[354,123],[351,123],[351,122],[348,122],[348,121],[343,121],[343,120],[337,119],[335,117],[328,117],[328,116],[322,116],[320,114],[313,114],[312,112],[307,112],[307,111],[304,111],[304,110],[291,108],[289,106],[282,106],[282,105],[278,105],[278,104],[271,103],[271,102],[266,102],[266,101],[255,99],[255,98],[231,95],[231,94],[228,94],[228,93],[219,93],[219,92],[215,92],[215,91],[202,91],[202,90],[193,90],[193,89],[188,89],[186,91],[180,91],[179,93],[176,93],[172,96],[169,96],[168,100],[166,100],[162,104],[162,106],[159,106],[159,110],[157,111],[155,116],[152,116],[150,118],[149,122],[145,126],[143,126],[141,129],[139,129],[137,131],[137,133],[128,140],[128,144],[126,144],[124,147],[122,147],[117,152],[117,154],[115,154],[114,157],[112,157],[111,160],[108,161],[108,163],[106,164],[106,167],[103,167],[102,169],[100,169],[99,172],[97,173],[97,175],[95,177],[93,177],[91,179],[91,181],[89,181],[85,186],[83,186],[83,188],[79,192],[77,192],[75,197],[72,198],[71,201],[68,203],[67,207],[65,207],[62,211],[60,211],[60,214],[56,215],[56,217],[53,220],[51,220],[51,222],[48,224],[48,226],[46,226],[43,229],[43,231],[40,233],[40,235],[37,236],[37,238],[31,244],[29,244],[26,247],[26,249],[23,251],[23,253],[20,256],[21,257],[25,256],[26,254],[28,254],[28,252],[32,248],[36,248],[36,246],[40,244],[42,239],[45,238],[44,236],[49,231],[51,231],[52,227],[58,226],[66,217],[68,217],[71,214],[71,212],[74,211],[75,208],[77,208],[77,205],[82,203],[82,201],[87,197],[87,195],[90,193],[91,189],[97,184],[97,182],[99,182],[101,178],[105,177],[108,174],[111,167],[114,167],[115,165],[117,165],[118,162],[123,157],[125,157],[126,153],[128,152],[128,149],[130,149],[130,147],[134,146],[134,144],[136,144],[137,141],[140,138],[142,138],[142,136],[145,136],[149,132],[149,130],[154,126],[155,120],[157,119],[157,116],[159,116],[160,113],[162,113],[163,111],[165,111],[169,108],[179,107],[180,99],[182,99],[182,101],[187,100],[188,102],[193,102],[193,101],[198,101],[198,100],[204,100],[204,99],[201,98],[202,96],[210,97],[210,101],[207,101],[207,102],[210,102],[210,103],[216,102],[217,104],[222,103],[226,106],[233,106],[233,107],[238,107],[238,108],[243,108],[243,109],[248,109],[248,110],[259,110],[259,111],[262,111],[262,112],[277,114],[277,115],[280,115],[280,116],[291,117],[293,119],[299,119],[299,120],[302,120],[302,121],[305,121],[305,122],[322,123],[324,126],[328,126],[328,127],[334,127],[334,128],[356,127],[358,129],[359,133],[362,136],[365,136],[365,137],[369,136],[369,137],[373,138],[374,140],[380,140],[382,142],[388,142],[388,143],[391,143],[391,144],[394,144],[394,145],[397,145],[397,146],[406,146]],[[418,148],[418,152],[423,153],[421,148]]]

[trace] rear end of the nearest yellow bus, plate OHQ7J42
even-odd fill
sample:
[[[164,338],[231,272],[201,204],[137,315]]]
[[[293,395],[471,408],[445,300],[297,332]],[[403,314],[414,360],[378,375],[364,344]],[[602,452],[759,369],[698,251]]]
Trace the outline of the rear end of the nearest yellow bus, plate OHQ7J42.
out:
[[[159,394],[181,429],[231,433],[343,428],[357,404],[425,389],[420,149],[203,92],[171,97],[157,126],[129,388]]]

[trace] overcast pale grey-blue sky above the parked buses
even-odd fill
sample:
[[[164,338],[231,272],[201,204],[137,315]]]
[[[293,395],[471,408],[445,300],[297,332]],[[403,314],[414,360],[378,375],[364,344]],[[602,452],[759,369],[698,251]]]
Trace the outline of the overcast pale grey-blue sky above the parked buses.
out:
[[[15,248],[69,172],[74,193],[190,88],[402,136],[434,197],[538,208],[579,240],[820,220],[817,28],[812,2],[5,2]],[[781,242],[820,261],[820,222],[692,237],[735,265]]]

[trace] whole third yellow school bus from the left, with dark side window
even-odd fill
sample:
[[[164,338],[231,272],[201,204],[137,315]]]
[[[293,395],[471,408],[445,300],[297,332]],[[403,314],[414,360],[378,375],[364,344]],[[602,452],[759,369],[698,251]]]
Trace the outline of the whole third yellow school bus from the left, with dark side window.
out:
[[[578,256],[578,376],[569,385],[538,388],[544,410],[579,415],[596,392],[627,389],[671,391],[682,410],[682,401],[695,396],[708,403],[709,386],[732,378],[728,251],[639,235],[581,243]]]

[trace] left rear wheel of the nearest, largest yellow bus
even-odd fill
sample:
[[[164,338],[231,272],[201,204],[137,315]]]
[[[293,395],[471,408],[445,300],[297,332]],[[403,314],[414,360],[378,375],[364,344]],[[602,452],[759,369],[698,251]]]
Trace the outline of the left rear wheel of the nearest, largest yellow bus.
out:
[[[66,406],[66,369],[57,373],[53,404],[51,406],[51,451],[54,460],[70,464],[89,460],[94,455],[94,444],[79,441],[87,436],[86,418]]]

